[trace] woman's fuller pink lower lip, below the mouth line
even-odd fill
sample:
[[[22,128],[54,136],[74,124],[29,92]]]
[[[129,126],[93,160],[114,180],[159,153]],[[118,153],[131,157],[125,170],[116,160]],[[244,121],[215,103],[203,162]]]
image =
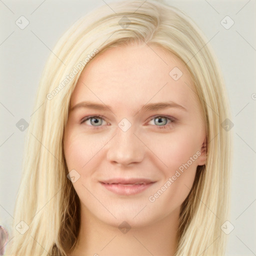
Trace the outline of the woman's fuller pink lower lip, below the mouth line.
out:
[[[154,182],[147,183],[147,184],[133,184],[133,185],[124,185],[124,184],[105,184],[100,182],[107,190],[114,192],[120,195],[132,195],[137,194],[149,186],[151,186]]]

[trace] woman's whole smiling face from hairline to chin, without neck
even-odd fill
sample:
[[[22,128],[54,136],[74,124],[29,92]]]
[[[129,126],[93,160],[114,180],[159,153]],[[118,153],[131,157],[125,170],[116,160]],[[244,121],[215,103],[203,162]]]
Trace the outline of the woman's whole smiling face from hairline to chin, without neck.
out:
[[[95,56],[71,95],[64,154],[81,213],[118,226],[170,217],[205,163],[205,126],[185,65],[155,45]]]

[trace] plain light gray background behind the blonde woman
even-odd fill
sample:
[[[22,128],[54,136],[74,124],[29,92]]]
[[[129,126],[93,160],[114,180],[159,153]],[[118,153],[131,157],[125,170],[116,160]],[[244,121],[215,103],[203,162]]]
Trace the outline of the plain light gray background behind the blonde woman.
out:
[[[62,33],[92,8],[110,0],[0,0],[0,225],[10,227],[21,177],[24,131],[47,56]],[[234,160],[226,255],[256,255],[255,0],[169,2],[186,12],[211,43],[226,81],[232,109]],[[23,30],[15,21],[24,15]],[[234,21],[225,29],[220,21]],[[254,95],[254,96],[253,96]],[[25,200],[25,198],[24,198]],[[205,230],[205,235],[206,235]]]

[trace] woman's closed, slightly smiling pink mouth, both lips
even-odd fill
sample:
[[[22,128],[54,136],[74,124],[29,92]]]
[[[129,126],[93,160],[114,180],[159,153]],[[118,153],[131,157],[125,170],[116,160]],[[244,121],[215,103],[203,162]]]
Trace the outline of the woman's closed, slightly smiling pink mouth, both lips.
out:
[[[156,181],[145,178],[115,178],[100,181],[100,184],[107,190],[118,195],[134,195],[144,191],[155,182]]]

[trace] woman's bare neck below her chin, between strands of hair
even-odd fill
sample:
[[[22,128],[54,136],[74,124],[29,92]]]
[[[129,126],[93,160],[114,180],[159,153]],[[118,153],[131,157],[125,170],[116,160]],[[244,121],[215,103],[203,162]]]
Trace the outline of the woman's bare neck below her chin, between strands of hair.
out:
[[[119,229],[100,221],[81,207],[77,246],[68,255],[164,255],[173,256],[177,247],[179,208],[150,225]]]

